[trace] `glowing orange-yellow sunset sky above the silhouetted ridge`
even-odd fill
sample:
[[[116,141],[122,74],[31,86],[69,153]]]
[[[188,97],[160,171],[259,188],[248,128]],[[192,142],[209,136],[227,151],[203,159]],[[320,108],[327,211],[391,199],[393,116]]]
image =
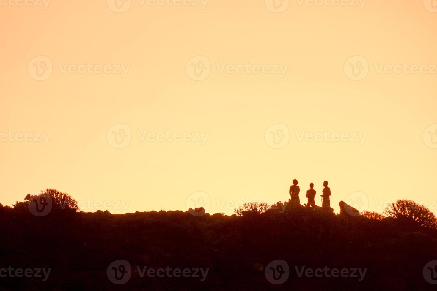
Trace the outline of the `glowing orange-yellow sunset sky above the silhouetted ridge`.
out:
[[[231,215],[298,179],[437,214],[436,0],[28,1],[0,0],[3,205]]]

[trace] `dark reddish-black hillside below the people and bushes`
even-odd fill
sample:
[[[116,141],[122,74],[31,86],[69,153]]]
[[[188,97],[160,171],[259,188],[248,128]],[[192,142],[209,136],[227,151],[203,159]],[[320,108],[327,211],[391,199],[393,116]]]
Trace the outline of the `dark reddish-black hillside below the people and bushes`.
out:
[[[437,259],[437,233],[396,219],[303,207],[243,217],[182,211],[37,217],[0,207],[0,218],[0,290],[437,288],[423,273]],[[35,277],[37,269],[50,273]]]

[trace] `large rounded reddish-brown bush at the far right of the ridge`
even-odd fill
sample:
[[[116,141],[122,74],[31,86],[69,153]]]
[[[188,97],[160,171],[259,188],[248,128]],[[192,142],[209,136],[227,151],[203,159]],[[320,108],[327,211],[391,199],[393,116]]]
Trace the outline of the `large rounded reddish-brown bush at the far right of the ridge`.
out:
[[[412,200],[398,200],[384,209],[384,213],[395,219],[415,221],[420,226],[437,229],[437,218],[427,207]]]

